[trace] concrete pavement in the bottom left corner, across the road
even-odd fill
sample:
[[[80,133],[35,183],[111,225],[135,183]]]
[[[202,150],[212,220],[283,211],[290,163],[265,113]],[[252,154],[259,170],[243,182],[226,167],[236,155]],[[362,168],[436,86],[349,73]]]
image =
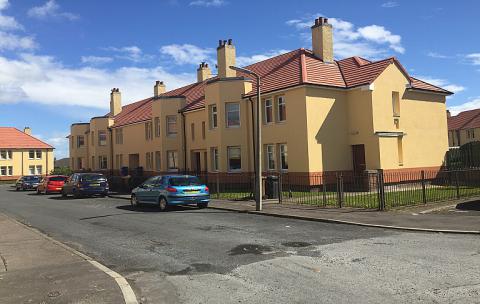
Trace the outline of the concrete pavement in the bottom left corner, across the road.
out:
[[[105,272],[0,214],[0,302],[125,303]]]

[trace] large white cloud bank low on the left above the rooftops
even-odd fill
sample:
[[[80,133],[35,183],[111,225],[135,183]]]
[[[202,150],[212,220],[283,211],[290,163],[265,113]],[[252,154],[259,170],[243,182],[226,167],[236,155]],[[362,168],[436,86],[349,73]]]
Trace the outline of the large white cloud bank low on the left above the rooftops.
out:
[[[0,103],[19,101],[107,109],[109,90],[118,87],[123,103],[153,95],[155,80],[168,89],[194,82],[193,74],[171,74],[162,67],[68,68],[50,56],[0,56]]]

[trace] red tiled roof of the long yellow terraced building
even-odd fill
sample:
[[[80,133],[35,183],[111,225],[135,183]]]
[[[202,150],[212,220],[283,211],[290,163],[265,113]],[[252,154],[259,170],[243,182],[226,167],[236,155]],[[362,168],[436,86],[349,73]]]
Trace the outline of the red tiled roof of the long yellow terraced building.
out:
[[[267,93],[301,84],[337,88],[352,88],[371,84],[390,64],[396,64],[403,71],[405,76],[410,79],[411,87],[414,89],[451,94],[444,89],[410,77],[396,58],[372,62],[361,57],[350,57],[325,63],[315,57],[312,51],[297,49],[245,68],[260,75],[262,80],[261,92]],[[237,76],[252,78],[241,72],[237,72]],[[187,105],[182,111],[201,109],[205,106],[205,84],[210,80],[212,79],[168,91],[161,96],[184,96]],[[252,91],[247,94],[249,96],[255,94],[256,91],[256,81],[255,79],[251,80]],[[114,127],[151,119],[152,102],[154,100],[154,97],[150,97],[124,106],[122,112],[115,117]]]

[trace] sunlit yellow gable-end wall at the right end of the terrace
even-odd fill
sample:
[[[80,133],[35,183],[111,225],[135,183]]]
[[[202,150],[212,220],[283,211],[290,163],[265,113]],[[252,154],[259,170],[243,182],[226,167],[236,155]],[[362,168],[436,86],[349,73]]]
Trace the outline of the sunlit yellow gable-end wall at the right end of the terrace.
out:
[[[403,166],[396,138],[380,139],[382,169],[441,166],[448,150],[445,96],[406,90],[407,78],[391,64],[374,82],[374,131],[403,132]],[[400,95],[399,128],[394,124],[392,91]]]

